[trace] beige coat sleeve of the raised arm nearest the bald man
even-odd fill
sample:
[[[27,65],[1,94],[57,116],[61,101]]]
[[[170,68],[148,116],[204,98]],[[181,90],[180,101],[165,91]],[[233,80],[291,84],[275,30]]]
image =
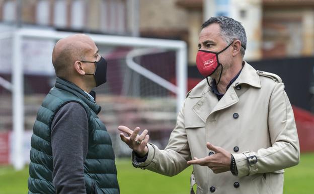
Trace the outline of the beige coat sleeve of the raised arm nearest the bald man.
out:
[[[148,155],[145,162],[137,162],[132,153],[133,166],[148,169],[163,175],[174,176],[188,167],[191,159],[187,134],[184,125],[183,108],[178,114],[177,124],[172,131],[165,150],[160,150],[153,144],[147,144]]]

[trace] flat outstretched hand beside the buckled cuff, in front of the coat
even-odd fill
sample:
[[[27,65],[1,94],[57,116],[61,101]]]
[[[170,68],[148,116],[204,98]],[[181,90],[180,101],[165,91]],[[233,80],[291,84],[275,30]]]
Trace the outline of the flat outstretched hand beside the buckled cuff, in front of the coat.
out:
[[[231,153],[220,147],[211,145],[208,142],[206,146],[209,150],[214,151],[215,154],[200,159],[194,157],[194,160],[188,161],[188,164],[198,164],[201,166],[207,166],[215,174],[230,170]]]

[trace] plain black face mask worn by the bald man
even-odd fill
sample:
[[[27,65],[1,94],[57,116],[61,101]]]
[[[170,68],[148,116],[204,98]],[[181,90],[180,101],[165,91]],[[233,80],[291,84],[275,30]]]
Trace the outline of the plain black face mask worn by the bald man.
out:
[[[92,62],[92,61],[84,61],[81,62]],[[94,61],[95,63],[95,72],[94,74],[85,74],[85,75],[92,75],[96,81],[96,87],[104,84],[107,81],[107,61],[103,57],[100,58],[99,61]]]

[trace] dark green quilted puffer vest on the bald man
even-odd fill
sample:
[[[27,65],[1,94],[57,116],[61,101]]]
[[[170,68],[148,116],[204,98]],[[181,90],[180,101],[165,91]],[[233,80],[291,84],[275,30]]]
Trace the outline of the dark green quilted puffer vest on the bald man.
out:
[[[111,139],[97,114],[101,107],[76,85],[57,78],[38,110],[31,139],[28,193],[55,194],[52,184],[51,122],[56,112],[68,102],[82,104],[88,115],[89,143],[84,163],[87,193],[119,193],[115,156]]]

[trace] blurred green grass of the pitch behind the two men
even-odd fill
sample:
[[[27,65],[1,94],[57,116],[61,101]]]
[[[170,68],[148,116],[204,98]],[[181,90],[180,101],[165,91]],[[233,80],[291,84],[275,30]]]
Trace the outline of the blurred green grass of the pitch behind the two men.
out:
[[[174,177],[136,169],[130,160],[117,160],[118,179],[122,194],[182,194],[189,192],[192,167]],[[28,168],[14,171],[0,167],[0,194],[27,193]],[[314,185],[314,153],[302,154],[299,165],[286,169],[284,194],[312,194]]]

